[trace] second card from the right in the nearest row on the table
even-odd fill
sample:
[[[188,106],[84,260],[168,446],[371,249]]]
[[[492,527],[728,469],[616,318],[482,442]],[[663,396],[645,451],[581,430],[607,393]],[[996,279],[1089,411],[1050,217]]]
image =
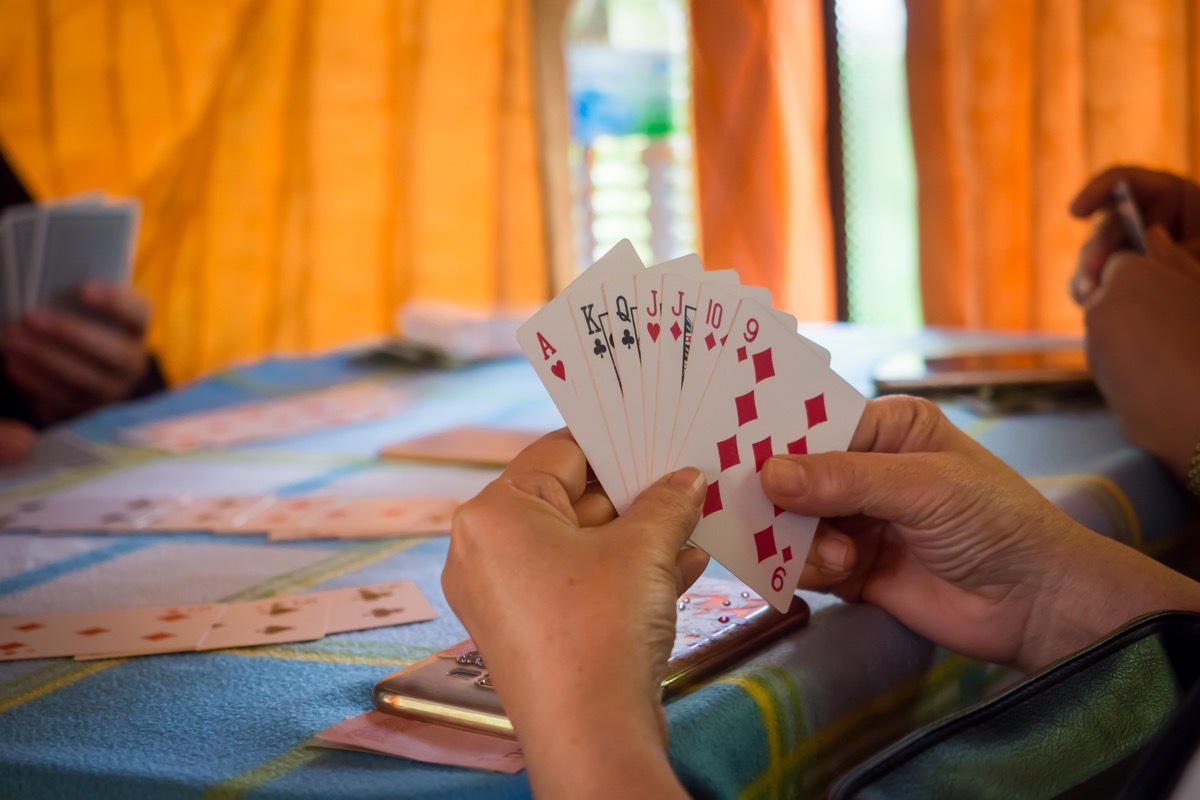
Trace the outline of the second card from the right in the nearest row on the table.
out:
[[[320,594],[228,603],[197,650],[311,642],[325,636],[329,597]]]

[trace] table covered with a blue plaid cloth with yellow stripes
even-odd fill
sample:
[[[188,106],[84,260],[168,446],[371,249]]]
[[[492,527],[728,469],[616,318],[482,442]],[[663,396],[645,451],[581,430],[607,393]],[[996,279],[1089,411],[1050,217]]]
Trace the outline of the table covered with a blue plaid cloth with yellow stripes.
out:
[[[1016,341],[836,325],[805,332],[864,391],[874,361],[899,348]],[[140,421],[364,378],[403,383],[416,401],[395,419],[235,452],[170,458],[115,444],[120,428]],[[1182,492],[1121,440],[1103,410],[985,417],[962,403],[946,409],[1100,534],[1159,553],[1189,519]],[[164,480],[214,491],[469,497],[494,473],[372,458],[383,443],[461,423],[550,429],[560,417],[521,360],[448,372],[358,353],[270,360],[77,421],[71,429],[107,443],[112,464],[0,486],[0,497],[70,486],[119,492]],[[440,593],[445,551],[445,537],[278,543],[203,534],[0,534],[0,613],[246,600],[410,578],[440,614],[306,644],[0,664],[0,796],[527,796],[524,774],[305,745],[368,710],[379,678],[464,637]],[[805,599],[812,607],[806,628],[668,705],[671,759],[695,794],[820,793],[874,750],[1012,678],[937,650],[876,608]]]

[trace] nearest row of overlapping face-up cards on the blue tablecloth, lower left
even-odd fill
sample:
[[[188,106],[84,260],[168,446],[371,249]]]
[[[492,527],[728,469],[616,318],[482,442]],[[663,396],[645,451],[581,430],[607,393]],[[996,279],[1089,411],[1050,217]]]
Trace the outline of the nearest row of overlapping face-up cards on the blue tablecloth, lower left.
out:
[[[236,603],[0,616],[0,661],[113,658],[311,642],[420,622],[437,612],[412,581]]]

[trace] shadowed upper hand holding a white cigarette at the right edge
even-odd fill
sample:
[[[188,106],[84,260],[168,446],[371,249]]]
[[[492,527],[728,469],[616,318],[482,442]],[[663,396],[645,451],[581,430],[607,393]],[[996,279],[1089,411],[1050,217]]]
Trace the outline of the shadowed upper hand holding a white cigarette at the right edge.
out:
[[[1112,188],[1128,181],[1146,229],[1160,225],[1194,257],[1200,257],[1200,186],[1170,173],[1138,167],[1111,167],[1092,178],[1072,200],[1070,212],[1080,218],[1099,212],[1092,235],[1079,249],[1070,281],[1075,302],[1088,305],[1103,283],[1109,257],[1123,246],[1124,229],[1112,206]]]

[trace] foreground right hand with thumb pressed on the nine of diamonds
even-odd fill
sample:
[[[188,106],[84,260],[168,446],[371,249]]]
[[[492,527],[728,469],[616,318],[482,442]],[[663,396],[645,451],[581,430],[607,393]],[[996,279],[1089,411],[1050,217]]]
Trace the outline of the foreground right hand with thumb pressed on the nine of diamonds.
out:
[[[1200,609],[1200,585],[1072,521],[928,401],[871,401],[848,452],[775,456],[762,483],[848,536],[836,594],[976,658],[1032,669],[1141,613]]]

